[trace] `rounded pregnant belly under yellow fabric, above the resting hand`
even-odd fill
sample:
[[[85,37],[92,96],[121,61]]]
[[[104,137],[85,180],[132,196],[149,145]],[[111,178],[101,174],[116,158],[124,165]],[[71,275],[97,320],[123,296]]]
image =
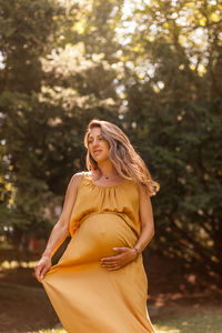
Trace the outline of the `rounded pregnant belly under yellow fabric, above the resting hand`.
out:
[[[120,215],[91,214],[81,222],[61,261],[68,258],[78,263],[99,261],[103,256],[117,254],[112,248],[132,248],[135,242],[135,233]]]

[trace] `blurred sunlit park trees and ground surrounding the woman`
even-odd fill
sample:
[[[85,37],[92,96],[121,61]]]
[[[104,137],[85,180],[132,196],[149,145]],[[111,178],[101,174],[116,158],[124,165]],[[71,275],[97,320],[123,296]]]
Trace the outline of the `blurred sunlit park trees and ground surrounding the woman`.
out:
[[[93,118],[160,183],[143,253],[154,326],[222,332],[221,111],[220,1],[0,0],[0,332],[60,332],[33,265]]]

